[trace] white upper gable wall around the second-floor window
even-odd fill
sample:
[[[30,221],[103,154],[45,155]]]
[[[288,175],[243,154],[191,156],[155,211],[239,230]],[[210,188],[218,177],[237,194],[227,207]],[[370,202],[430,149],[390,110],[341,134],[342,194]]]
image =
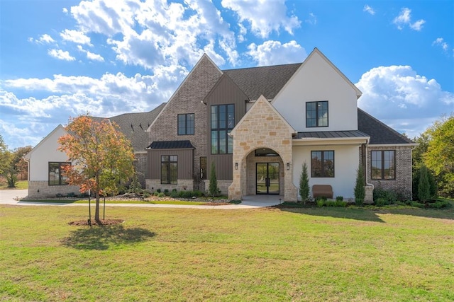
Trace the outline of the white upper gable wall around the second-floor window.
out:
[[[328,127],[306,128],[306,102],[328,100]],[[313,52],[272,101],[298,132],[358,130],[357,91],[319,52]]]

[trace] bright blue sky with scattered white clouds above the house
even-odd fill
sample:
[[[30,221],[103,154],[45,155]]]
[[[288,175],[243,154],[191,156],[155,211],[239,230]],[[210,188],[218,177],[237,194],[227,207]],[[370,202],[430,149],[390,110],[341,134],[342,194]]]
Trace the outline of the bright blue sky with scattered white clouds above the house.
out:
[[[454,112],[454,1],[1,0],[0,47],[9,149],[87,112],[152,110],[204,52],[232,69],[317,47],[411,138]]]

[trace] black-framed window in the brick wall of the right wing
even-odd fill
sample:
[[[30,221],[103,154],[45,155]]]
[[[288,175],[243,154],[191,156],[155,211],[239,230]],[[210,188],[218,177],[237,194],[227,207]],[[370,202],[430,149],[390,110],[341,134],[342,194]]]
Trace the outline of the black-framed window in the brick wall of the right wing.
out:
[[[370,177],[372,180],[396,179],[396,153],[394,150],[371,151]]]

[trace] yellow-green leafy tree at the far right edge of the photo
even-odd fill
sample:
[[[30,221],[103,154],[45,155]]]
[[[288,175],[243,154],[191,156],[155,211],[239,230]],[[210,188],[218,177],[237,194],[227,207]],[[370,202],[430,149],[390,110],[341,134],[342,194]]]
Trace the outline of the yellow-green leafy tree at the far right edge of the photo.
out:
[[[428,148],[423,161],[433,170],[440,193],[454,197],[454,116],[442,117],[426,131]]]

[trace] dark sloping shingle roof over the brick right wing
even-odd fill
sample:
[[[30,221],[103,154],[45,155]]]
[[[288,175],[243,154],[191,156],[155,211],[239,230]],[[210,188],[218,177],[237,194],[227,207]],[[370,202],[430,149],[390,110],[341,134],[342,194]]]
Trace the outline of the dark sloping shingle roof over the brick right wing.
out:
[[[358,130],[370,135],[369,144],[414,144],[396,130],[358,108]]]

